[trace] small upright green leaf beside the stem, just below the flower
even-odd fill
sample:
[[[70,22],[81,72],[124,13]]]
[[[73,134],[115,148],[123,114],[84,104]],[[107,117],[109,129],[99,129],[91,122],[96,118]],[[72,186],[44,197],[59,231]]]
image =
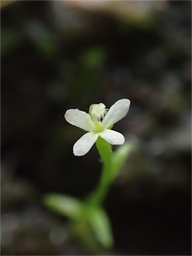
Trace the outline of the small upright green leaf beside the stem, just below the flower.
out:
[[[123,165],[125,165],[125,162],[127,161],[127,157],[129,156],[129,153],[132,149],[131,143],[125,143],[119,149],[113,153],[112,157],[112,165],[111,165],[111,179],[115,179],[117,177],[119,171],[121,171],[121,168]]]

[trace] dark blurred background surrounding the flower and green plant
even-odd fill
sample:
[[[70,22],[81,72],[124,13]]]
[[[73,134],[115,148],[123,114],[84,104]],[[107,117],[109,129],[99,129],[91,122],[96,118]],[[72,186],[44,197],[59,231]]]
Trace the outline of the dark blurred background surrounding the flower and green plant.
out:
[[[134,147],[101,254],[191,255],[191,1],[1,1],[1,255],[89,255],[41,197],[99,180],[65,111],[123,97]]]

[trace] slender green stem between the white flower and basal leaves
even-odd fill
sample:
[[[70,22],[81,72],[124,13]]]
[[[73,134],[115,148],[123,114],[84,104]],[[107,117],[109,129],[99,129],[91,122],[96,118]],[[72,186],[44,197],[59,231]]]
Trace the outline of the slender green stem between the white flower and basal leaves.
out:
[[[111,145],[107,143],[104,139],[99,137],[96,142],[97,150],[99,155],[103,160],[103,169],[101,173],[101,178],[96,189],[89,195],[88,200],[92,205],[99,205],[103,203],[111,185],[111,159],[112,159],[112,150]]]

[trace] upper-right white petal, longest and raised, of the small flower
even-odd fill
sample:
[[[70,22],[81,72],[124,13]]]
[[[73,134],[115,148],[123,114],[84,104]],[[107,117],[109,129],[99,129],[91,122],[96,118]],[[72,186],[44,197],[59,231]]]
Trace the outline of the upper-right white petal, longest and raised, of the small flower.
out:
[[[125,117],[129,111],[130,103],[129,99],[119,99],[119,101],[116,101],[105,115],[102,121],[103,127],[109,128]]]

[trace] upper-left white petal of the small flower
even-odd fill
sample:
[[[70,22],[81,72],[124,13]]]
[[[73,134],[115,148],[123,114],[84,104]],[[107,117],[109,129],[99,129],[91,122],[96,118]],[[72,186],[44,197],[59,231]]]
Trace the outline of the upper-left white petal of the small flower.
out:
[[[85,131],[93,129],[93,121],[89,114],[79,109],[68,109],[65,112],[65,120],[71,125],[75,125]]]

